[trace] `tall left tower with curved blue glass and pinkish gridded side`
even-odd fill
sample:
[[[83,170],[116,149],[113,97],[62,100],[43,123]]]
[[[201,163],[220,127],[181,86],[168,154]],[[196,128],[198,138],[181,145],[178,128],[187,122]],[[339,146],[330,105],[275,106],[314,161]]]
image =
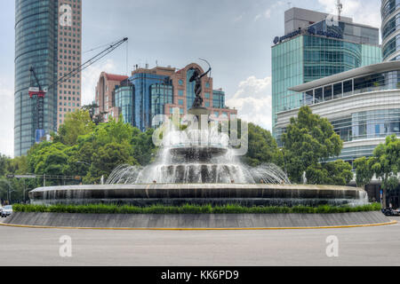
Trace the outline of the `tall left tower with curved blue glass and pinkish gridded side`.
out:
[[[15,1],[15,156],[27,154],[36,143],[37,104],[28,95],[30,67],[47,90],[45,134],[56,131],[65,114],[80,106],[80,75],[60,85],[56,82],[81,64],[81,26],[81,0]]]

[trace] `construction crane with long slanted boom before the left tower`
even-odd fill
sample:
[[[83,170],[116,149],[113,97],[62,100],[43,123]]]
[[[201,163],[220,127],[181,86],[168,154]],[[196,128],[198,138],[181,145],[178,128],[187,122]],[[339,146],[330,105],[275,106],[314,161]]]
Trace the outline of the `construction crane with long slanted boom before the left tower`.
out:
[[[42,138],[44,138],[44,97],[47,93],[48,90],[51,90],[53,87],[59,86],[61,83],[67,82],[68,79],[71,77],[74,77],[78,73],[81,73],[86,69],[87,67],[90,67],[92,64],[96,63],[100,59],[104,58],[106,55],[108,55],[110,52],[116,50],[120,45],[123,43],[127,42],[128,38],[124,37],[123,39],[117,41],[116,43],[111,43],[108,48],[106,48],[104,51],[101,51],[100,53],[96,54],[93,56],[91,59],[87,60],[84,62],[79,67],[76,67],[73,69],[71,72],[69,72],[66,75],[63,75],[60,77],[59,80],[56,82],[52,83],[50,86],[46,88],[42,88],[42,85],[40,84],[34,67],[30,67],[29,72],[30,72],[30,87],[28,89],[28,94],[30,99],[36,99],[36,143],[40,143]],[[34,82],[35,79],[35,82]]]

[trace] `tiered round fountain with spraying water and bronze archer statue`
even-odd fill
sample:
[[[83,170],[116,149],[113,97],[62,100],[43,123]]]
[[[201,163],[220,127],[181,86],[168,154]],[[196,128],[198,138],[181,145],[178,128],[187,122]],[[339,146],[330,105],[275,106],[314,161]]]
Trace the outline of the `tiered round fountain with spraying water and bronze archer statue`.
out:
[[[228,123],[212,121],[202,107],[201,78],[195,70],[196,99],[180,125],[179,112],[166,118],[156,162],[141,169],[120,165],[105,185],[74,185],[37,188],[29,193],[34,204],[117,203],[151,204],[239,203],[244,206],[293,206],[366,203],[364,190],[332,185],[291,185],[284,171],[267,163],[252,168],[237,158],[236,143],[228,136]],[[231,122],[231,133],[236,122]],[[232,125],[234,128],[232,129]],[[172,126],[172,127],[169,127]],[[161,127],[160,129],[163,129]],[[224,129],[227,131],[220,131]],[[245,132],[242,129],[242,132]],[[242,133],[242,138],[244,133]],[[245,141],[244,143],[247,143]]]

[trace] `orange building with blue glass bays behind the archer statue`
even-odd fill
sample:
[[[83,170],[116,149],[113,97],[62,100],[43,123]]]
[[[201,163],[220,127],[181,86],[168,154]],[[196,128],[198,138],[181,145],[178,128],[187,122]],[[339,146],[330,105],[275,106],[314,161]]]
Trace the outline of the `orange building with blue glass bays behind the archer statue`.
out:
[[[192,63],[179,71],[172,67],[137,68],[130,78],[102,73],[96,88],[98,113],[107,113],[105,118],[115,119],[122,114],[124,122],[143,131],[157,126],[153,120],[157,114],[172,115],[174,108],[179,108],[180,115],[187,114],[196,97],[195,83],[189,82],[194,72],[192,68],[204,72],[202,67]],[[223,120],[237,114],[236,109],[225,106],[225,92],[213,90],[212,77],[204,76],[202,96],[203,106],[214,118]],[[105,107],[104,101],[107,102]]]

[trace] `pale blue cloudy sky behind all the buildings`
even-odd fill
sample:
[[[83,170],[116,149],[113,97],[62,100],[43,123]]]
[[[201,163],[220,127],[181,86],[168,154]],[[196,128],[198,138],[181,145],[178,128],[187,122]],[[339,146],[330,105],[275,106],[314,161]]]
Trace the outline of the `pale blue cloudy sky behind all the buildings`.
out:
[[[93,48],[127,36],[129,43],[83,74],[87,104],[101,71],[130,74],[144,67],[212,65],[214,89],[226,91],[226,104],[238,116],[271,129],[271,46],[284,36],[284,11],[296,6],[335,12],[336,0],[82,0],[83,60]],[[342,0],[342,15],[380,28],[380,0]],[[0,11],[0,154],[13,155],[14,15],[13,0]],[[205,68],[205,66],[204,66]]]

